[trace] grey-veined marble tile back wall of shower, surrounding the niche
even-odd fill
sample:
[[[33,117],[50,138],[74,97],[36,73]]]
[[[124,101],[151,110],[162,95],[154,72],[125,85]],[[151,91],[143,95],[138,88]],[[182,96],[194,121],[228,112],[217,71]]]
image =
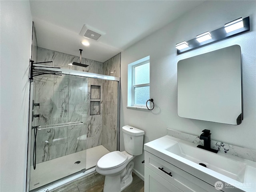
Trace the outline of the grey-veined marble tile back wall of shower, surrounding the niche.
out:
[[[101,62],[82,58],[82,63],[89,65],[87,68],[69,66],[69,63],[79,62],[79,57],[38,48],[37,62],[46,61],[53,61],[48,63],[48,66],[103,73]],[[91,85],[99,85],[101,88],[100,115],[90,116]],[[69,75],[44,75],[34,78],[34,100],[40,103],[40,108],[34,109],[35,114],[40,114],[39,119],[34,119],[34,126],[84,122],[78,126],[38,130],[37,163],[102,144],[102,87],[103,81],[93,78]],[[32,146],[33,139],[32,134]]]

